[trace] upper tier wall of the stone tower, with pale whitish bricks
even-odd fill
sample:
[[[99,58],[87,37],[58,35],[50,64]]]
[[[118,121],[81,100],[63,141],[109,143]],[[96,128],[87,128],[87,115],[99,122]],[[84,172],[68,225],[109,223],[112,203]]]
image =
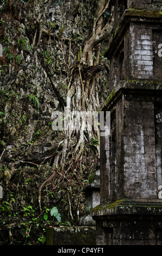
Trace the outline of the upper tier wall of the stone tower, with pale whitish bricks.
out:
[[[110,59],[110,91],[120,80],[162,80],[159,44],[160,29],[154,24],[130,22],[122,44]],[[123,66],[123,68],[122,68]]]

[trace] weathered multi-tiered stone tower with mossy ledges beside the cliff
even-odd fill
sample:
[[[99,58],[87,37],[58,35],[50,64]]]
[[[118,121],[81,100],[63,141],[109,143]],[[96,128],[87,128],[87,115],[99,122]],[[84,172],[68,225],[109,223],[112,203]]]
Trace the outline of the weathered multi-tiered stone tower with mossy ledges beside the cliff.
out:
[[[162,1],[111,1],[97,245],[162,245]]]

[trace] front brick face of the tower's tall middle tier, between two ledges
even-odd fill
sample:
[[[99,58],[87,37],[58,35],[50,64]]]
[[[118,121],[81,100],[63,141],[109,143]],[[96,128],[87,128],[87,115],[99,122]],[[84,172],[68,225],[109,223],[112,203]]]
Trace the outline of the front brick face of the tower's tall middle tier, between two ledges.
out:
[[[157,199],[154,102],[147,96],[125,96],[123,148],[124,197]]]

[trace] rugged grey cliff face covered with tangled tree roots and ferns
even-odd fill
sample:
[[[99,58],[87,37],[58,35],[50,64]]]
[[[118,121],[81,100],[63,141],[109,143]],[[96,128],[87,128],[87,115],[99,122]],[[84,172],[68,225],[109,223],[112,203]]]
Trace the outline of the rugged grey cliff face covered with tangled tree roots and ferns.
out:
[[[82,188],[98,161],[98,137],[53,130],[52,121],[54,111],[64,112],[69,106],[82,111],[88,105],[96,111],[104,100],[107,72],[93,78],[89,89],[93,103],[86,99],[83,105],[86,77],[84,69],[78,69],[97,2],[0,3],[2,244],[35,243],[31,234],[38,239],[52,222],[53,206],[64,222],[76,223],[84,212]],[[41,228],[32,231],[32,225]]]

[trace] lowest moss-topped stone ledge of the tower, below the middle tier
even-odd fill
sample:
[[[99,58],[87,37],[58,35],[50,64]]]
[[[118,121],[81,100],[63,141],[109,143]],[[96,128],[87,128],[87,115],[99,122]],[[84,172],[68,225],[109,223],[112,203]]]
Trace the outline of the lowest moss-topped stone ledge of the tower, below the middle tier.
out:
[[[162,202],[159,200],[120,199],[114,203],[100,204],[90,212],[92,217],[112,215],[159,215],[162,216]]]

